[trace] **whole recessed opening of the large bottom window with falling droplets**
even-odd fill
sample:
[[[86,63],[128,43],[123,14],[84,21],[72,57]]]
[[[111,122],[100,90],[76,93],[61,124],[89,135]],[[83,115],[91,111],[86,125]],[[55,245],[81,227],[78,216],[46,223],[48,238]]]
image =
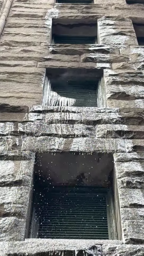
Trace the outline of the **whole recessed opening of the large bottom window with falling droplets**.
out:
[[[31,238],[117,239],[109,154],[36,156]]]

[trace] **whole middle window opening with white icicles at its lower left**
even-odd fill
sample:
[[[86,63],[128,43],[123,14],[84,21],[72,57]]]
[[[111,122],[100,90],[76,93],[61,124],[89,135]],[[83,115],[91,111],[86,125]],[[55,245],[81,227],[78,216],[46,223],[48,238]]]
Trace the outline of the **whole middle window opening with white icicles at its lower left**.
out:
[[[54,68],[46,70],[43,106],[107,107],[103,70]]]

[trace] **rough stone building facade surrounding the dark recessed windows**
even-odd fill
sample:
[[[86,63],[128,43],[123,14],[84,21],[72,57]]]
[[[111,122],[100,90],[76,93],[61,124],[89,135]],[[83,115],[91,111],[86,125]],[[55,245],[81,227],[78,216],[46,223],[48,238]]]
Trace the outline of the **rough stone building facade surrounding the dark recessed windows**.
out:
[[[52,44],[73,23],[95,24],[97,44]],[[0,0],[0,256],[144,256],[143,23],[139,2]],[[98,108],[42,105],[67,71],[98,77]],[[29,236],[35,157],[51,153],[112,155],[113,240]]]

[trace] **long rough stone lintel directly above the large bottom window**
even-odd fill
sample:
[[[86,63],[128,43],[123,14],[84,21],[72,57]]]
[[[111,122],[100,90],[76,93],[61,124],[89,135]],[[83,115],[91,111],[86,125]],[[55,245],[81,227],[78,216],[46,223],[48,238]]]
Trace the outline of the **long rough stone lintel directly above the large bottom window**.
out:
[[[23,140],[22,150],[38,152],[125,152],[125,144],[122,139],[96,139],[92,138],[70,138],[57,137],[26,137]]]

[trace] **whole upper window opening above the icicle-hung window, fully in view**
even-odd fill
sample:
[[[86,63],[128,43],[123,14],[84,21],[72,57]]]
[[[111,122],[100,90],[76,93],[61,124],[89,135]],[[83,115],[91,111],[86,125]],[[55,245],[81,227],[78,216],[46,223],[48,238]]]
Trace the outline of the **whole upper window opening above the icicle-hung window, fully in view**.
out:
[[[97,44],[97,23],[87,20],[53,19],[53,44]]]

